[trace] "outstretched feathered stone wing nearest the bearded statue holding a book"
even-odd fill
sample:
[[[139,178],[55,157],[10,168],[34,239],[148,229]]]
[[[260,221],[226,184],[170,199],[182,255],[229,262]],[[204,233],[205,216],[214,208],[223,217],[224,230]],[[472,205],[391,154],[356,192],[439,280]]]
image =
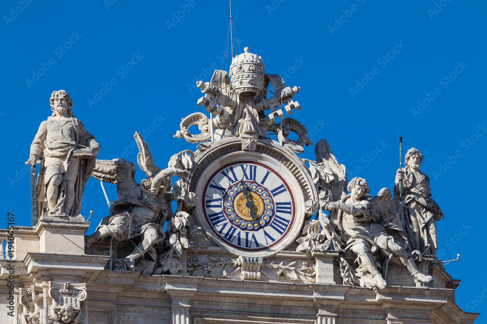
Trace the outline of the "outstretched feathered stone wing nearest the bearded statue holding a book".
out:
[[[96,160],[92,176],[103,182],[117,185],[118,199],[129,198],[138,184],[135,181],[135,164],[125,159]]]

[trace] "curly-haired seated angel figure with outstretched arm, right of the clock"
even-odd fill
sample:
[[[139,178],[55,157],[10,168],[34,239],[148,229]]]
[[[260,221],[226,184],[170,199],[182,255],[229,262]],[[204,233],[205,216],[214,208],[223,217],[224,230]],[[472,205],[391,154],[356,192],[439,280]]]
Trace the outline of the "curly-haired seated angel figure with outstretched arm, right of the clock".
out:
[[[399,243],[402,241],[404,244],[406,239],[401,239],[404,231],[398,223],[391,191],[383,188],[372,197],[367,194],[370,189],[365,179],[358,177],[349,182],[348,190],[350,194],[338,202],[326,203],[324,208],[338,210],[337,221],[341,225],[340,233],[347,244],[346,249],[357,255],[362,271],[372,275],[375,283],[371,286],[382,289],[387,285],[375,266],[376,252],[398,257],[416,282],[430,282],[431,276],[418,271],[411,254]]]

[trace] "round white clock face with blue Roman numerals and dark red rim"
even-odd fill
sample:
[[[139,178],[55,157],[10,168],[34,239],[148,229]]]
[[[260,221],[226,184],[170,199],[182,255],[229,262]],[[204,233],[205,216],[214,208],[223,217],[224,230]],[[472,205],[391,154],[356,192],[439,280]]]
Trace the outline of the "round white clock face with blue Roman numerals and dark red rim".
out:
[[[220,168],[208,179],[204,197],[207,225],[238,250],[272,248],[295,222],[296,203],[290,186],[278,172],[257,162]]]

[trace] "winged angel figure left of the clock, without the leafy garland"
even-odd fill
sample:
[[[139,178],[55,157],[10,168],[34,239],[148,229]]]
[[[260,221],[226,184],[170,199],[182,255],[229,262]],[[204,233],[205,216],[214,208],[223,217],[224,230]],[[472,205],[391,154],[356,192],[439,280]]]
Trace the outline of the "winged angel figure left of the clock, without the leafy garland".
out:
[[[147,179],[138,184],[134,179],[135,167],[126,160],[97,160],[93,176],[100,180],[112,178],[111,182],[117,184],[118,200],[112,202],[108,224],[101,224],[85,240],[88,248],[109,236],[120,241],[140,237],[140,243],[123,259],[131,270],[135,270],[135,260],[146,253],[150,252],[155,261],[153,246],[165,239],[163,225],[168,215],[172,215],[170,200],[166,197],[171,190],[171,177],[189,173],[173,167],[165,170],[156,167],[142,136],[136,132],[134,137],[140,150],[137,161]]]

